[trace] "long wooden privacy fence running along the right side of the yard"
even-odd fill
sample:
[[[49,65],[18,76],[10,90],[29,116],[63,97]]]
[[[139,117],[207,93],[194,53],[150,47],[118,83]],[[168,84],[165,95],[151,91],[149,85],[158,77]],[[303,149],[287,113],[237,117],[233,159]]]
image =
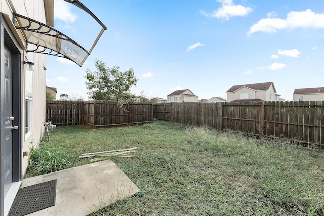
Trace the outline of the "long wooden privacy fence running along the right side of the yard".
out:
[[[154,116],[324,146],[324,101],[165,103],[154,105]]]

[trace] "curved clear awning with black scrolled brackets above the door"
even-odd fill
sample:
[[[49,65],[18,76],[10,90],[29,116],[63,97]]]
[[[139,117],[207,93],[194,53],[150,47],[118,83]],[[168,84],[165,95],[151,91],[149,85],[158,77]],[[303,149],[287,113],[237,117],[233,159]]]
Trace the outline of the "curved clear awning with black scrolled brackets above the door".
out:
[[[97,44],[102,33],[107,30],[106,26],[78,0],[65,0],[90,14],[101,26],[96,40],[89,50],[84,49],[77,42],[61,33],[60,31],[36,20],[15,14],[13,23],[16,29],[20,29],[26,40],[26,51],[49,54],[69,59],[79,66],[86,61],[92,49]],[[17,20],[17,22],[16,22]]]

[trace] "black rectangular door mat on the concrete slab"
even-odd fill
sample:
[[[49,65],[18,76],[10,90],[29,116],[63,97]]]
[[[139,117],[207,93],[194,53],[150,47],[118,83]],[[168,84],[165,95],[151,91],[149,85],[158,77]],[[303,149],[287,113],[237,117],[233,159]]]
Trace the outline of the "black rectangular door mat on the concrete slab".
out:
[[[22,216],[55,205],[56,179],[20,188],[8,215]]]

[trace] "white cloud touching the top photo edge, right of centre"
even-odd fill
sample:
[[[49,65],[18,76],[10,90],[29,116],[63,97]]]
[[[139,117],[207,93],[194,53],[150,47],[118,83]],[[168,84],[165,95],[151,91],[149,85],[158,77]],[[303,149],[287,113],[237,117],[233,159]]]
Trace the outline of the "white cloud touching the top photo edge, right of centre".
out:
[[[250,7],[234,5],[232,0],[217,0],[217,2],[222,3],[221,8],[214,10],[212,13],[206,13],[205,11],[200,11],[200,13],[204,14],[206,17],[229,20],[230,17],[245,16],[253,11]]]

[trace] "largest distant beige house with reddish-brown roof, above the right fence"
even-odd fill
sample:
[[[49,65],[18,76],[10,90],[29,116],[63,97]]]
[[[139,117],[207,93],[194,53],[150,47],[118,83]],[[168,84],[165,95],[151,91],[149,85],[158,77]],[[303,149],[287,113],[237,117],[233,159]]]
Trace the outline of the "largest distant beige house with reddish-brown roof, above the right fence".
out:
[[[273,82],[233,85],[226,93],[228,102],[281,101]]]

